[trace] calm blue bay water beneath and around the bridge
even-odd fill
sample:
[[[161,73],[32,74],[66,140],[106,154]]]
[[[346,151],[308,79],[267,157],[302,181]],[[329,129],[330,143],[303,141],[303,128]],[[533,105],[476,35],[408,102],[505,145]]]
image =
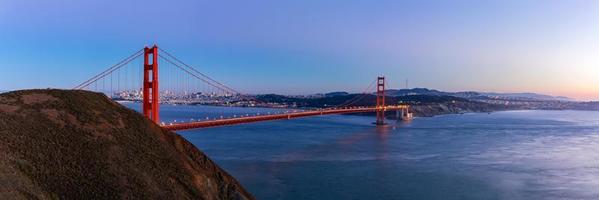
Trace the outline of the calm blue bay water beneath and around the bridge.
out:
[[[273,111],[161,108],[166,121]],[[599,199],[599,112],[445,115],[382,128],[373,120],[179,133],[258,199]]]

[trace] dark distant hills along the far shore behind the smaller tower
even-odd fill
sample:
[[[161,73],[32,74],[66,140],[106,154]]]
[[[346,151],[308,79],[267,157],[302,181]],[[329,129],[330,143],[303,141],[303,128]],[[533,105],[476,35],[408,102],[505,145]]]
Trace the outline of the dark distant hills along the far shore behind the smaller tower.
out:
[[[330,108],[344,106],[374,106],[376,94],[282,96],[258,95],[262,102],[277,103],[279,106]],[[443,92],[427,88],[385,90],[387,105],[410,104],[415,116],[464,112],[492,112],[501,110],[599,110],[599,102],[578,102],[567,97],[536,93],[491,93],[491,92]]]

